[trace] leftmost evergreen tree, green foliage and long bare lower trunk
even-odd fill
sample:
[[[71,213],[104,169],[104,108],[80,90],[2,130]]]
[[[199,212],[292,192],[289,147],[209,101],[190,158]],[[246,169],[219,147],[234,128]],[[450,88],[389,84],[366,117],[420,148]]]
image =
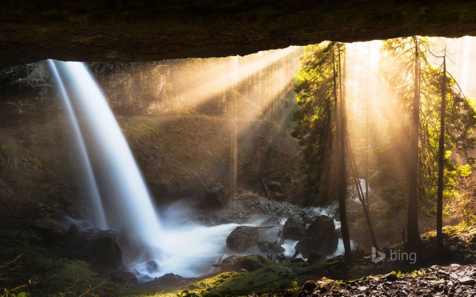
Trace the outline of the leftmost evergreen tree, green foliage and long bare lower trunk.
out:
[[[298,110],[292,135],[303,147],[306,203],[339,203],[345,258],[350,258],[346,219],[347,173],[345,163],[345,108],[341,60],[344,45],[326,43],[305,48],[301,70],[296,75]]]

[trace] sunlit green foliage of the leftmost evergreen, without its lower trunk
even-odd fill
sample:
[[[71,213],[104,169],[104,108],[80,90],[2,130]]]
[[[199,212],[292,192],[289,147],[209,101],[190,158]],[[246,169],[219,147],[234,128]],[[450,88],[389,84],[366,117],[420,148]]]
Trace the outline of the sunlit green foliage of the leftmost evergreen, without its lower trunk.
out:
[[[338,77],[334,74],[340,71],[339,49],[343,56],[343,45],[338,43],[305,47],[301,69],[295,76],[298,109],[292,117],[296,124],[291,135],[302,146],[305,204],[326,205],[335,200],[333,135]]]

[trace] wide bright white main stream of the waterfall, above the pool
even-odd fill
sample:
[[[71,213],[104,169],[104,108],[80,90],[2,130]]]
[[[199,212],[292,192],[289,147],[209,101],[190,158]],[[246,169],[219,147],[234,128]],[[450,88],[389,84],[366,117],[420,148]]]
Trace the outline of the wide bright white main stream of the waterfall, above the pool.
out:
[[[63,96],[75,102],[77,112],[85,119],[86,132],[83,131],[83,137],[87,134],[95,147],[95,158],[104,173],[102,196],[107,195],[112,200],[107,203],[110,213],[107,222],[112,228],[124,230],[131,241],[128,244],[132,245],[131,252],[134,251],[134,254],[129,254],[124,260],[146,260],[143,258],[150,258],[151,254],[160,250],[158,242],[162,230],[121,128],[83,63],[51,63],[56,66],[66,86]],[[92,175],[92,172],[88,175]],[[140,250],[137,245],[140,245]]]

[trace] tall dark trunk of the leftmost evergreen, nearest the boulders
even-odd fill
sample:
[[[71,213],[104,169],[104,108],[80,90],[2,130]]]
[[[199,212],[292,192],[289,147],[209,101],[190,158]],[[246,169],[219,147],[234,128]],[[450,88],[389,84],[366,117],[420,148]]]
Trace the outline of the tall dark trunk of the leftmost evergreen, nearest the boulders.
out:
[[[334,49],[333,49],[334,50]],[[347,194],[347,178],[345,170],[345,114],[344,114],[344,98],[342,93],[342,73],[340,64],[340,44],[337,44],[338,62],[339,62],[339,105],[337,105],[337,90],[336,90],[336,62],[335,51],[332,53],[333,69],[334,69],[334,102],[336,103],[336,161],[337,161],[337,197],[339,201],[339,217],[342,231],[342,241],[344,243],[344,258],[350,259],[350,235],[349,226],[347,224],[347,212],[345,207],[345,196]]]

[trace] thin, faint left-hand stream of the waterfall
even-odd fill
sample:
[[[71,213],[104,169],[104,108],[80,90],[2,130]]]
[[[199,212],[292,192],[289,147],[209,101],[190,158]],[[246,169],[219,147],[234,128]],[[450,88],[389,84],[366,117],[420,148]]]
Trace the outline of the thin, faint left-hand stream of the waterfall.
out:
[[[53,62],[53,60],[48,60],[48,63],[50,64],[51,70],[53,71],[53,74],[58,82],[64,105],[71,121],[71,126],[73,128],[74,136],[76,138],[76,143],[80,149],[80,157],[82,159],[83,166],[86,171],[86,179],[89,190],[91,192],[90,194],[94,210],[94,221],[96,223],[95,226],[101,229],[107,229],[106,216],[104,215],[104,207],[102,205],[101,196],[99,195],[96,179],[94,178],[93,168],[91,167],[91,161],[89,159],[88,151],[86,150],[86,145],[81,134],[80,125],[77,122],[76,115],[74,114],[73,107],[71,106],[71,101],[69,99],[68,94],[66,93],[66,89],[64,88],[63,81],[59,76],[55,63]]]

